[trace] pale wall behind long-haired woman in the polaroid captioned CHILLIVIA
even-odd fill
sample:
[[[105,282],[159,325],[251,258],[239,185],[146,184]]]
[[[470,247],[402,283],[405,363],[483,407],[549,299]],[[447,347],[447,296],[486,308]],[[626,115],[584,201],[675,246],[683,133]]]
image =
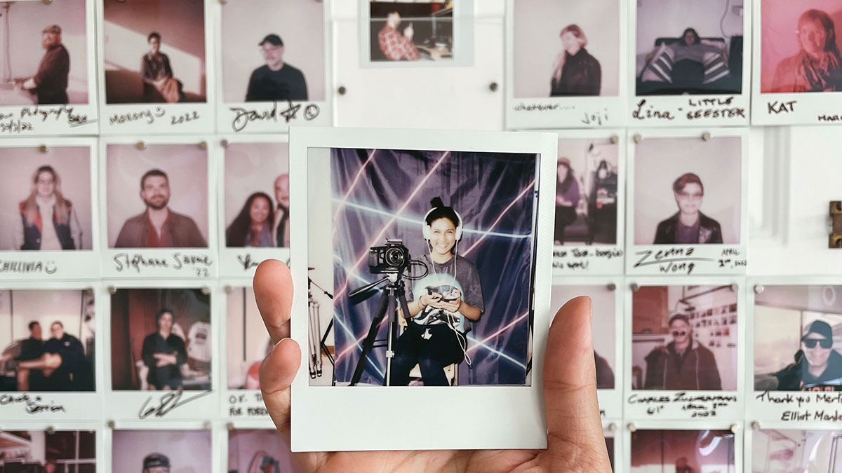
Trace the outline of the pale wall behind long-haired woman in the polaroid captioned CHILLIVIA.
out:
[[[40,3],[39,3],[40,4]],[[2,61],[0,61],[2,62]],[[0,150],[0,250],[13,249],[15,229],[22,225],[18,205],[29,197],[35,170],[50,165],[61,179],[61,193],[70,199],[82,226],[83,249],[92,243],[91,149],[56,146],[42,153],[36,146],[4,147]]]

